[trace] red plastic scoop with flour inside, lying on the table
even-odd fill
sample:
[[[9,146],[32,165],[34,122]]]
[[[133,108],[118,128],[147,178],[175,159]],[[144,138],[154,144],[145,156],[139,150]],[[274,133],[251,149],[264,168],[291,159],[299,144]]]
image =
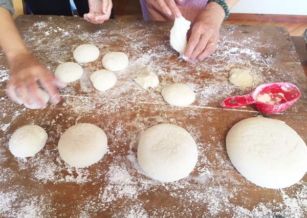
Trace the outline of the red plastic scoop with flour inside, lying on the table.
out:
[[[269,83],[258,86],[250,94],[225,99],[222,107],[238,108],[255,104],[258,111],[274,114],[290,108],[300,96],[301,92],[292,83]]]

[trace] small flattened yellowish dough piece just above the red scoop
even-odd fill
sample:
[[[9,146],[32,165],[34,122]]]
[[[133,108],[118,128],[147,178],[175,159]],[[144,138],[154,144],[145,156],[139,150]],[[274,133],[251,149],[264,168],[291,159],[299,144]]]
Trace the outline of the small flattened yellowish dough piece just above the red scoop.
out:
[[[253,83],[253,78],[249,70],[232,69],[229,72],[229,81],[235,86],[249,87]]]

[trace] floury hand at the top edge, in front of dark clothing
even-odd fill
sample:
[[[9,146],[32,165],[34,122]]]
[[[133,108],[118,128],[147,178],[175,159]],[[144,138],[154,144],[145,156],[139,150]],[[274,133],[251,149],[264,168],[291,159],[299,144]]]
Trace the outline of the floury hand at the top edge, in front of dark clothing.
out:
[[[102,24],[111,15],[112,0],[89,0],[90,12],[84,14],[86,21],[93,24]]]

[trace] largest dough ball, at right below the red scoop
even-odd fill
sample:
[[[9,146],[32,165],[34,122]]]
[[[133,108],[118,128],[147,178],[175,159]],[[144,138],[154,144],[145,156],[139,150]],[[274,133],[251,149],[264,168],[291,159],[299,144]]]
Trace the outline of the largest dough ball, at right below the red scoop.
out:
[[[264,188],[286,188],[304,176],[307,147],[287,124],[252,117],[235,124],[227,134],[231,163],[250,182]]]

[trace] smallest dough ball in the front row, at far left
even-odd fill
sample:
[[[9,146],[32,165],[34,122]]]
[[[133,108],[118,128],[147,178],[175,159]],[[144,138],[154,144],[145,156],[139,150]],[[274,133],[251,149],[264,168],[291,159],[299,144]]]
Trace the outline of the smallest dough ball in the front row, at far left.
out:
[[[47,138],[47,132],[40,126],[26,125],[12,134],[9,149],[16,157],[34,156],[46,145]]]

